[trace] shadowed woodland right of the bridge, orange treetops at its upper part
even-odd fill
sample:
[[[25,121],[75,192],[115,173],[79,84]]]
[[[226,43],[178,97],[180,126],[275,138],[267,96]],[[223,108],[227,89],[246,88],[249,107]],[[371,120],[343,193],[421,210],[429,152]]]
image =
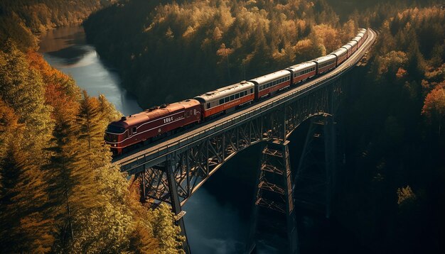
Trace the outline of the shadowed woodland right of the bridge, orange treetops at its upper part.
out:
[[[338,216],[378,253],[442,253],[445,11],[383,4],[367,13],[380,33],[368,65],[348,77]]]

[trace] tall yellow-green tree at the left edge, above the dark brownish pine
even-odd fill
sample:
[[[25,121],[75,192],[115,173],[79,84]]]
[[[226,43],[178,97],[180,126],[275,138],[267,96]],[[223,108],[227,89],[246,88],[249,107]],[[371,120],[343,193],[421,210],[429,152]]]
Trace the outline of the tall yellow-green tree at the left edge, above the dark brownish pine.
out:
[[[45,159],[54,123],[50,107],[45,105],[45,87],[41,76],[29,68],[25,55],[9,41],[0,51],[0,96],[14,109],[18,122],[24,123],[23,148],[30,151],[36,164]]]

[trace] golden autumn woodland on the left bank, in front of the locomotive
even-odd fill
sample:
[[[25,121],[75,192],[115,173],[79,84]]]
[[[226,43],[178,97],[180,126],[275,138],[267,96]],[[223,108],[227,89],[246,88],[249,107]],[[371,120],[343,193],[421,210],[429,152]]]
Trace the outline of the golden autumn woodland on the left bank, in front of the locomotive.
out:
[[[29,31],[79,22],[90,2],[0,4],[0,253],[183,253],[170,208],[146,207],[139,180],[110,163],[104,129],[121,114],[30,43]],[[28,16],[43,6],[54,20]]]

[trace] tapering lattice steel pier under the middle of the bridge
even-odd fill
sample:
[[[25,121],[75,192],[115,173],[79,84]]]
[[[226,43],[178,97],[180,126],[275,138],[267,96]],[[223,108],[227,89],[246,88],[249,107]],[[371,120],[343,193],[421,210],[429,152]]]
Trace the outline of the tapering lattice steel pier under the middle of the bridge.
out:
[[[247,247],[248,253],[252,253],[256,248],[255,238],[259,227],[260,208],[273,211],[274,216],[281,214],[286,217],[289,253],[299,253],[288,143],[288,140],[269,141],[262,150],[255,186],[255,204],[249,239],[251,244]]]

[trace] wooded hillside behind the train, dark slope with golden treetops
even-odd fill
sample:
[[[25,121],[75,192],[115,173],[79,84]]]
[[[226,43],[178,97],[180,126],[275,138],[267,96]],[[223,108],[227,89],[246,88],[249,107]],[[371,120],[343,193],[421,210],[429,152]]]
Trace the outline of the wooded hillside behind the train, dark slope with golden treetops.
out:
[[[323,1],[227,0],[122,1],[84,27],[144,107],[325,55],[358,28],[353,20],[339,23]]]

